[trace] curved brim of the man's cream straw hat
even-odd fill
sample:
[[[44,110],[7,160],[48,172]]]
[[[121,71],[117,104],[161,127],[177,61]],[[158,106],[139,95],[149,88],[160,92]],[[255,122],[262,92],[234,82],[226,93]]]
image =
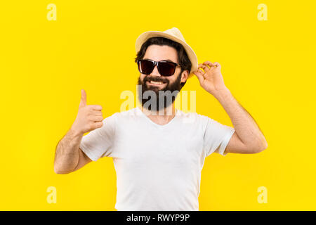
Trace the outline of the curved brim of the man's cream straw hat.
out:
[[[140,51],[140,48],[143,45],[143,43],[147,41],[147,39],[150,39],[151,37],[166,37],[168,39],[171,39],[172,41],[176,41],[182,44],[192,64],[191,70],[189,72],[189,77],[187,77],[187,79],[189,79],[190,77],[193,77],[192,72],[196,71],[198,68],[197,55],[195,54],[195,51],[193,51],[192,48],[187,43],[185,43],[181,39],[178,39],[177,37],[172,36],[171,34],[166,34],[161,31],[147,31],[147,32],[144,32],[143,34],[140,34],[140,36],[138,36],[138,38],[136,39],[136,53]]]

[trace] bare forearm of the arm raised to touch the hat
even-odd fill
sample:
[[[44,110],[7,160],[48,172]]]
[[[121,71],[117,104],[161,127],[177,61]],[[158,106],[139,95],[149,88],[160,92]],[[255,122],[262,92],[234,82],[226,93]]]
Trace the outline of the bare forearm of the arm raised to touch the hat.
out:
[[[214,97],[228,113],[239,139],[249,149],[265,149],[268,144],[253,117],[240,105],[229,89],[220,91]]]

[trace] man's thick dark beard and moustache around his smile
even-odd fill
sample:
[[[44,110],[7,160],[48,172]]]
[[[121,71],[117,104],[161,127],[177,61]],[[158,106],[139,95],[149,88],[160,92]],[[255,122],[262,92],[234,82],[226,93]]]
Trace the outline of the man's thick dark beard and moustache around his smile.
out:
[[[164,82],[164,88],[160,89],[159,86],[147,85],[147,82]],[[150,110],[152,112],[157,112],[167,108],[171,105],[178,95],[181,86],[181,72],[177,79],[170,83],[168,79],[164,77],[149,77],[148,75],[144,77],[143,81],[138,77],[138,100],[142,103],[143,108]],[[141,87],[141,89],[139,88]],[[150,96],[150,99],[146,96]],[[155,98],[156,101],[154,101]],[[150,103],[147,103],[150,101]]]

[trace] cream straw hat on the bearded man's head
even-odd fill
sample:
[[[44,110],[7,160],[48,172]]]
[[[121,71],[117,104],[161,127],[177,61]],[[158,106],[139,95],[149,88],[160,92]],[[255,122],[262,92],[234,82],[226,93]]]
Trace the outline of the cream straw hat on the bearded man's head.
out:
[[[191,49],[191,47],[185,42],[185,39],[183,38],[183,35],[181,34],[180,30],[176,27],[172,27],[169,30],[165,30],[163,32],[161,31],[147,31],[144,32],[143,34],[140,34],[138,38],[136,39],[136,53],[140,51],[141,46],[147,39],[150,39],[150,37],[166,37],[168,39],[171,39],[172,41],[176,41],[180,44],[182,44],[183,48],[185,49],[187,56],[189,57],[192,67],[191,71],[189,73],[189,77],[193,76],[194,71],[197,70],[198,68],[198,63],[197,63],[197,55],[195,54],[195,51]]]

